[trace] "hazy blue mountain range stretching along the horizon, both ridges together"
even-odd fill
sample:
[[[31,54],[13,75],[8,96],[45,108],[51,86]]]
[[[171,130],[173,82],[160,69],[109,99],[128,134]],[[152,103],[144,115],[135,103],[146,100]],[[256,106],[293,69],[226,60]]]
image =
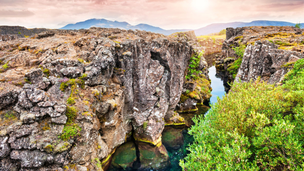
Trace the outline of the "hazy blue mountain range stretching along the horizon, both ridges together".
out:
[[[284,21],[266,21],[266,20],[257,20],[252,22],[230,22],[230,23],[216,23],[216,24],[210,24],[206,27],[194,29],[195,35],[208,35],[210,33],[219,32],[222,29],[225,29],[227,27],[245,27],[245,26],[294,26],[295,23],[291,22],[284,22]],[[304,23],[301,24],[302,26]],[[174,32],[180,32],[180,31],[189,31],[193,29],[171,29],[171,30],[165,30],[160,27],[155,27],[148,24],[138,24],[138,25],[131,25],[127,22],[119,22],[119,21],[110,21],[106,19],[89,19],[86,21],[78,22],[76,24],[67,24],[66,26],[59,28],[59,29],[87,29],[90,27],[104,27],[104,28],[120,28],[120,29],[138,29],[138,30],[146,30],[156,33],[162,33],[164,35],[171,35]]]

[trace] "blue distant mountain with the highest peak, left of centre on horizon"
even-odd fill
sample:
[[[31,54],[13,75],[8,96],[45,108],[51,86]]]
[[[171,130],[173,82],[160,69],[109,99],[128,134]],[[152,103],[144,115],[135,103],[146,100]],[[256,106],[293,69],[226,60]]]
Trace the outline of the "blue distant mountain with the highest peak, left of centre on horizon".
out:
[[[131,25],[127,22],[118,22],[118,21],[109,21],[106,19],[89,19],[86,21],[78,22],[76,24],[67,24],[66,26],[59,28],[59,29],[88,29],[90,27],[103,27],[103,28],[120,28],[120,29],[138,29],[138,30],[146,30],[156,33],[162,33],[164,35],[170,35],[174,32],[180,31],[187,31],[190,29],[177,29],[177,30],[165,30],[159,27],[154,27],[148,24],[138,24],[138,25]]]

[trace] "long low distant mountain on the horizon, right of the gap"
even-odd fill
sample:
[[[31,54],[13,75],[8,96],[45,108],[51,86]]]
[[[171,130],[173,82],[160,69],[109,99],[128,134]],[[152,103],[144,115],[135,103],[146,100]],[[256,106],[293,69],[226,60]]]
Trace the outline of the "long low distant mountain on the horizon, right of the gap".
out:
[[[194,30],[196,36],[208,35],[210,33],[219,32],[222,29],[232,27],[247,27],[247,26],[294,26],[295,23],[284,22],[284,21],[265,21],[265,20],[257,20],[252,22],[230,22],[230,23],[219,23],[219,24],[210,24],[206,27],[202,27]],[[304,23],[302,23],[304,26]]]

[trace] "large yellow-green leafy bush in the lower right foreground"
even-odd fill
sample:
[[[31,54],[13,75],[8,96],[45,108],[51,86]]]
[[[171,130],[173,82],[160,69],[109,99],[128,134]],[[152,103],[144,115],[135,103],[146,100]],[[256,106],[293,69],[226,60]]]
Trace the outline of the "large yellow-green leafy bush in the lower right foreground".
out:
[[[193,119],[184,170],[304,168],[304,59],[275,87],[235,83],[229,95]]]

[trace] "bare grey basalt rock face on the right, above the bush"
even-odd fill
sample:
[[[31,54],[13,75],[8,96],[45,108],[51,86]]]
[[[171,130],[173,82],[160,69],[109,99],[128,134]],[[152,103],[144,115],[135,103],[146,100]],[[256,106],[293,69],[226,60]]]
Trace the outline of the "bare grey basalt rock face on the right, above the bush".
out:
[[[290,70],[284,65],[300,58],[304,54],[278,49],[278,45],[269,41],[256,41],[254,46],[247,46],[235,81],[256,81],[260,77],[269,84],[279,83]]]

